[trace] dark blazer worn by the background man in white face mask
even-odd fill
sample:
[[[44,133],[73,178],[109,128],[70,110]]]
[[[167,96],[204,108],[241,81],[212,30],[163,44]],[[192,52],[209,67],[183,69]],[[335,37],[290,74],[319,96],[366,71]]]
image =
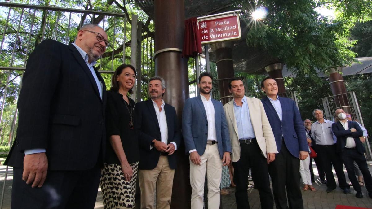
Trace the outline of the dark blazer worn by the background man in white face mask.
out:
[[[357,122],[350,120],[347,121],[347,126],[349,126],[349,129],[345,130],[340,121],[332,124],[333,134],[337,137],[336,151],[342,152],[346,145],[346,138],[352,137],[355,141],[356,150],[360,154],[363,154],[364,152],[366,152],[366,149],[363,147],[363,144],[359,139],[359,136],[363,136],[362,129]],[[350,129],[352,128],[355,128],[356,132],[351,132]]]

